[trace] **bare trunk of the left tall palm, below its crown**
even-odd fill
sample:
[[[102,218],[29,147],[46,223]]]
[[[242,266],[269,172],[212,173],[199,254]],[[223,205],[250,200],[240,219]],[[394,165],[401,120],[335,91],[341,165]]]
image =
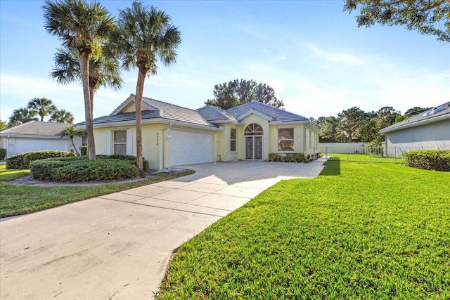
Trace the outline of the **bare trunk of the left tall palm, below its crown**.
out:
[[[88,53],[79,53],[79,71],[82,73],[84,116],[86,118],[87,155],[96,159],[96,144],[94,143],[94,126],[92,125],[92,107],[89,94],[89,60]]]

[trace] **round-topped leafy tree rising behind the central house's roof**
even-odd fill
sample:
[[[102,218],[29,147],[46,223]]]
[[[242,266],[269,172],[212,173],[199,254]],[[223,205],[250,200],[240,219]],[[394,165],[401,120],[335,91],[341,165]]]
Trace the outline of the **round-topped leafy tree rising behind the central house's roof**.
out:
[[[207,100],[205,105],[214,105],[228,110],[250,101],[259,101],[274,107],[284,107],[284,103],[275,96],[274,89],[253,80],[235,79],[214,86],[214,99]]]

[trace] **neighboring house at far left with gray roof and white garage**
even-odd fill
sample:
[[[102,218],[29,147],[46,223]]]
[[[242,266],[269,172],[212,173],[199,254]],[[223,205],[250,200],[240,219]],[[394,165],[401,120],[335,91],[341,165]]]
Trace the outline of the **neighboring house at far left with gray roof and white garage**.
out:
[[[6,157],[37,150],[72,151],[69,136],[63,136],[66,127],[72,124],[31,121],[0,131],[0,148],[6,149]],[[82,145],[82,137],[75,136],[77,150]]]

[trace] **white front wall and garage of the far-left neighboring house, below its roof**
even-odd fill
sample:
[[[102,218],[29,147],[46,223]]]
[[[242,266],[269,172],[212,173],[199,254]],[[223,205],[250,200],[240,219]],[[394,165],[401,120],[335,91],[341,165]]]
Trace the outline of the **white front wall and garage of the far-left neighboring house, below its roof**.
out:
[[[77,150],[81,146],[81,141],[77,144],[74,141]],[[70,138],[13,138],[0,137],[0,148],[6,149],[6,157],[16,155],[23,152],[38,150],[60,150],[75,152]]]

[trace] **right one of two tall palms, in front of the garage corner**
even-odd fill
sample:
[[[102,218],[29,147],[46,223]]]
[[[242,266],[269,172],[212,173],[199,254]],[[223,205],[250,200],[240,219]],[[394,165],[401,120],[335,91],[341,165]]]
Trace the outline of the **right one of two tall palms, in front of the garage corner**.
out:
[[[172,25],[169,15],[153,6],[144,6],[134,1],[131,8],[119,10],[118,30],[114,44],[126,70],[137,67],[136,84],[136,157],[137,167],[143,172],[142,157],[142,96],[146,75],[154,75],[158,58],[166,66],[176,62],[176,48],[181,42],[181,33]]]

